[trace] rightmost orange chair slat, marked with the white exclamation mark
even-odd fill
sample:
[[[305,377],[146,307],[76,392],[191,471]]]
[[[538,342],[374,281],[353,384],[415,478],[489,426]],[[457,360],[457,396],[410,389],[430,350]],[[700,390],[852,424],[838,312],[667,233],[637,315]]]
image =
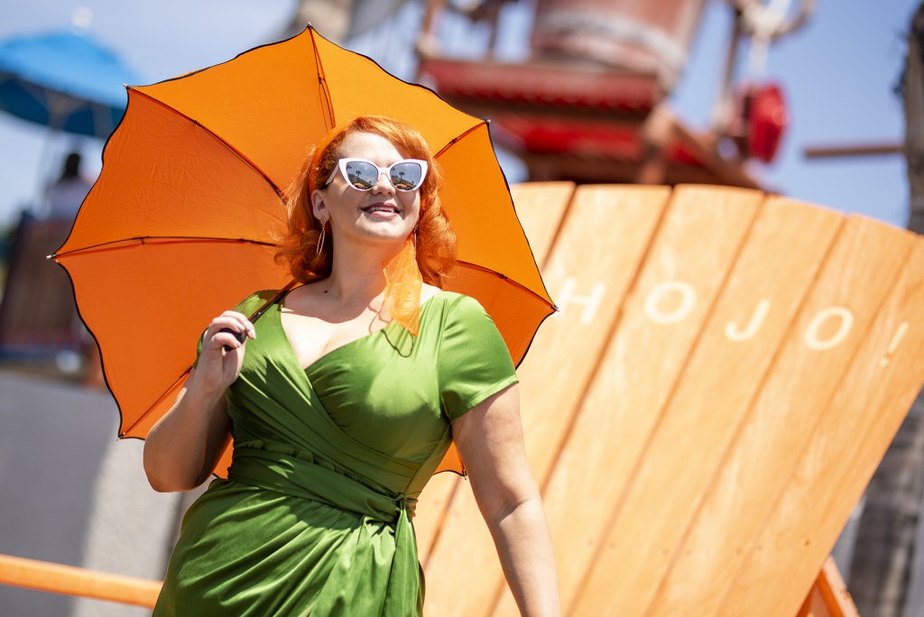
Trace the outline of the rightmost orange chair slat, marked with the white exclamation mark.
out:
[[[784,582],[807,580],[818,570],[918,394],[924,327],[914,322],[920,315],[924,239],[918,238],[723,610],[789,614],[799,604],[798,587]]]

